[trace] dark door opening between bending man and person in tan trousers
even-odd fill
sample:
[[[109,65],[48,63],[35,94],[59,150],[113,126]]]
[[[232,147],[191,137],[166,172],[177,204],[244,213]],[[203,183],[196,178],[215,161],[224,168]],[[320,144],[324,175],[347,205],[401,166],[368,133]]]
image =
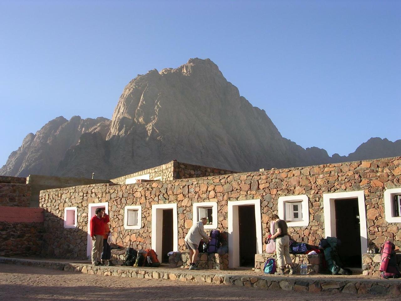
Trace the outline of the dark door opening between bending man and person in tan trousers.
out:
[[[239,265],[255,266],[256,221],[255,205],[238,206]]]

